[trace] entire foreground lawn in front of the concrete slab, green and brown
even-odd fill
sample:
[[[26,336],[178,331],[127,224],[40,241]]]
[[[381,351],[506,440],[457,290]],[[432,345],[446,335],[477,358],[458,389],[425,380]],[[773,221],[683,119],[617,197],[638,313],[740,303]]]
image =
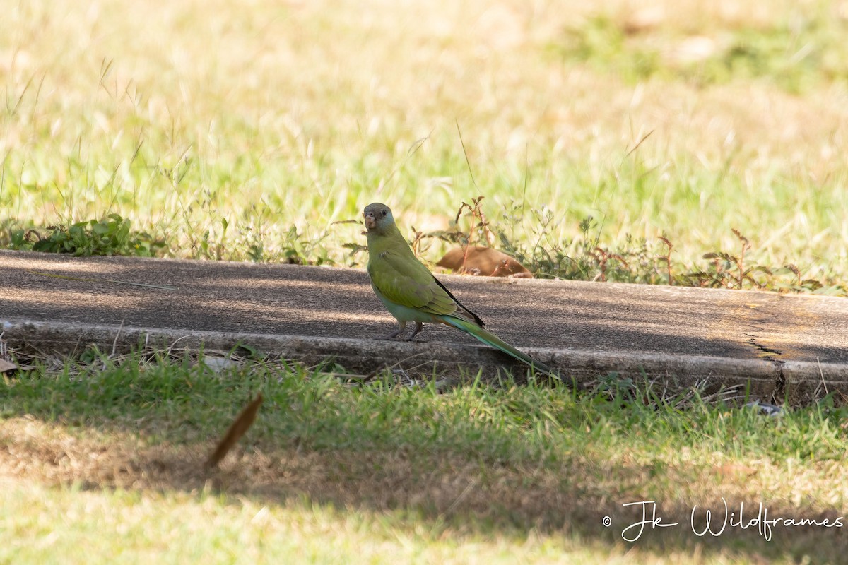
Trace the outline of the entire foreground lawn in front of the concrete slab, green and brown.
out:
[[[839,529],[812,526],[771,541],[739,528],[620,537],[639,515],[628,501],[656,500],[687,526],[693,505],[717,510],[722,496],[773,517],[841,516],[845,408],[828,402],[770,418],[614,378],[581,393],[473,379],[439,392],[388,374],[349,384],[267,361],[209,367],[145,354],[36,361],[7,379],[0,555],[51,562],[84,544],[86,562],[694,563],[845,550]],[[256,391],[254,427],[207,470]]]

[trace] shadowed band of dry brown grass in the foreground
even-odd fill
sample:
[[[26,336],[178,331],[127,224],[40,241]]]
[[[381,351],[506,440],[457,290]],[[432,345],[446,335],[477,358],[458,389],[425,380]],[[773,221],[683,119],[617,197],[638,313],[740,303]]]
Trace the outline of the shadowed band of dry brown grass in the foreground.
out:
[[[702,557],[757,562],[783,551],[813,552],[819,557],[845,551],[839,529],[777,528],[773,540],[766,542],[756,527],[699,539],[688,523],[694,504],[720,512],[722,497],[731,507],[745,501],[751,517],[759,501],[767,497],[772,517],[833,520],[845,512],[834,504],[848,494],[848,481],[840,479],[844,471],[833,462],[805,462],[803,470],[787,474],[785,468],[767,461],[740,463],[720,454],[704,461],[691,458],[686,450],[650,461],[628,453],[610,458],[585,452],[573,454],[560,468],[542,469],[481,466],[463,457],[433,459],[426,453],[404,451],[290,448],[239,451],[219,470],[209,471],[204,462],[212,446],[147,446],[126,433],[86,430],[82,435],[80,431],[32,418],[6,420],[0,428],[0,479],[15,489],[79,485],[94,492],[130,490],[145,498],[150,496],[147,493],[173,493],[167,496],[180,501],[184,495],[179,493],[217,492],[222,496],[218,499],[221,508],[252,501],[254,508],[279,510],[310,501],[308,508],[317,504],[382,516],[378,519],[389,520],[391,531],[417,524],[420,534],[429,532],[425,539],[435,536],[434,540],[461,544],[480,535],[490,540],[495,535],[495,539],[514,540],[510,543],[538,546],[565,536],[583,540],[577,544],[583,549],[595,542],[612,544],[610,558],[627,551],[631,557],[655,560],[668,555],[692,557],[692,562]],[[668,490],[670,485],[673,490]],[[828,494],[823,496],[825,491]],[[635,522],[637,514],[622,510],[620,504],[641,500],[662,500],[666,522],[683,525],[646,530],[635,545],[622,542],[617,536],[621,524]],[[166,513],[168,503],[158,503]],[[203,512],[209,512],[208,503],[197,504],[198,510],[206,507]],[[126,512],[133,511],[128,507]],[[613,518],[613,528],[601,525],[604,516]],[[375,530],[377,538],[383,527]],[[531,531],[535,540],[521,542]]]

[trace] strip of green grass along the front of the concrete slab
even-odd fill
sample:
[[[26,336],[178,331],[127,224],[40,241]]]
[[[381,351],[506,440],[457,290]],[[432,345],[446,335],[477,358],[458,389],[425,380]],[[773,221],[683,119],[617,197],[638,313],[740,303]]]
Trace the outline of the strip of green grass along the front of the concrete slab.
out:
[[[217,374],[187,357],[142,362],[137,356],[21,376],[6,386],[5,416],[29,413],[72,427],[142,425],[155,432],[148,435],[154,441],[173,435],[210,440],[259,391],[265,396],[263,410],[281,416],[254,428],[259,445],[288,438],[310,450],[411,446],[510,463],[555,462],[592,436],[610,452],[624,448],[633,435],[645,436],[640,449],[646,453],[666,451],[671,437],[678,447],[734,456],[754,450],[774,459],[830,459],[845,452],[843,432],[835,424],[846,409],[829,401],[789,418],[762,418],[754,410],[714,407],[696,395],[685,403],[681,397],[664,399],[651,387],[614,376],[602,379],[593,394],[565,385],[493,386],[473,379],[442,394],[435,383],[395,385],[391,376],[345,385],[334,374],[273,363],[248,363]],[[672,409],[682,403],[688,405],[685,412]],[[221,410],[226,406],[232,411]],[[589,436],[581,433],[586,428],[592,428]],[[781,437],[768,438],[775,429]],[[812,429],[818,433],[811,437]]]

